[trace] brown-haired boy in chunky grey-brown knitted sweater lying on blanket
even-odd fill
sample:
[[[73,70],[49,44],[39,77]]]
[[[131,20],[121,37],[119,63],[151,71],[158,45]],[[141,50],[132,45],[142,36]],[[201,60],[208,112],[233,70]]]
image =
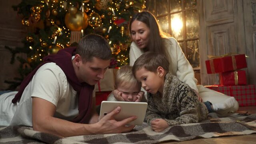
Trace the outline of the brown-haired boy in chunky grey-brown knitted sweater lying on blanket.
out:
[[[217,104],[215,109],[208,101],[199,102],[194,90],[168,70],[167,58],[154,52],[144,53],[132,68],[134,76],[148,92],[146,122],[155,132],[176,124],[199,122],[207,117],[208,111],[234,106],[234,97]]]

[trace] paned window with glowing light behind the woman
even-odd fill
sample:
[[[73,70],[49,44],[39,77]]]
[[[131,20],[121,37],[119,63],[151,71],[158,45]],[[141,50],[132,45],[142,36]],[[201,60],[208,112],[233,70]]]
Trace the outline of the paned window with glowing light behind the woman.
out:
[[[146,10],[156,16],[164,32],[176,38],[194,70],[200,70],[196,0],[146,0]]]

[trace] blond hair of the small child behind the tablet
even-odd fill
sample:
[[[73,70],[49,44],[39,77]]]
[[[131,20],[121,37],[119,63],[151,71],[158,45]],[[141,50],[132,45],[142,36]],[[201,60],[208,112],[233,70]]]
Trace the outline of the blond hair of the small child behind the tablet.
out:
[[[141,87],[141,83],[132,74],[132,66],[122,66],[117,71],[115,87],[117,88],[121,84],[139,84]]]

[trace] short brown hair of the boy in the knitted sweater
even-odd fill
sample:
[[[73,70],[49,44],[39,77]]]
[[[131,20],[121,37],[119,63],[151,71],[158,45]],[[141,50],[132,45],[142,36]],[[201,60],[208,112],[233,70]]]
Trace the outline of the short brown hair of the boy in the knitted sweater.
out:
[[[134,62],[132,73],[135,76],[136,71],[141,68],[156,73],[158,66],[161,66],[166,72],[169,72],[169,62],[166,56],[156,52],[145,52]]]

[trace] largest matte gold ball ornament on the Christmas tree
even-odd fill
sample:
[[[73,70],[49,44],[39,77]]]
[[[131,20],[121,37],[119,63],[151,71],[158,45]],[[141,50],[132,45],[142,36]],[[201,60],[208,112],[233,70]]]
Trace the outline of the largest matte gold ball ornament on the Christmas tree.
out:
[[[84,13],[84,16],[83,16]],[[71,31],[81,31],[88,26],[87,14],[85,12],[78,11],[76,14],[70,14],[67,12],[65,16],[65,24]]]

